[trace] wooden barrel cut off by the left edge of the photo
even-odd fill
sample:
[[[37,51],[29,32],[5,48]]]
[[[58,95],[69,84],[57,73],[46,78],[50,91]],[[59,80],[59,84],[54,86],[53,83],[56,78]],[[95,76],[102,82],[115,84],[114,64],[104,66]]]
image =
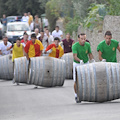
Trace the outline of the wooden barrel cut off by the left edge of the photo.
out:
[[[0,79],[13,79],[13,62],[11,54],[0,57]]]

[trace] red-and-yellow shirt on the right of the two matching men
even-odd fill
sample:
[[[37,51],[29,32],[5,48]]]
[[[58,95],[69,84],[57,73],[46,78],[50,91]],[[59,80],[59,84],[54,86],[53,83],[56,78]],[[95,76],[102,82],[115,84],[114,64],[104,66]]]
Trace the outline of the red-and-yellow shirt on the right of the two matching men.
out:
[[[59,57],[62,57],[62,55],[64,54],[64,50],[60,45],[56,48],[56,45],[53,43],[49,45],[45,51],[47,52],[50,49],[52,49],[52,52],[49,53],[50,57],[59,58]]]

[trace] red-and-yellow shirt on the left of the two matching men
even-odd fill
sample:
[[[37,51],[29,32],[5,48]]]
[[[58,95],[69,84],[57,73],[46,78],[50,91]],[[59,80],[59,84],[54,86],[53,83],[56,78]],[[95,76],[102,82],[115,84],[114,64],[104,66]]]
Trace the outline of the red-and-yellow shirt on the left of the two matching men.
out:
[[[32,41],[30,40],[24,50],[26,53],[28,53],[28,56],[31,57],[37,57],[41,55],[41,52],[44,49],[42,43],[36,39],[35,43],[33,44]]]

